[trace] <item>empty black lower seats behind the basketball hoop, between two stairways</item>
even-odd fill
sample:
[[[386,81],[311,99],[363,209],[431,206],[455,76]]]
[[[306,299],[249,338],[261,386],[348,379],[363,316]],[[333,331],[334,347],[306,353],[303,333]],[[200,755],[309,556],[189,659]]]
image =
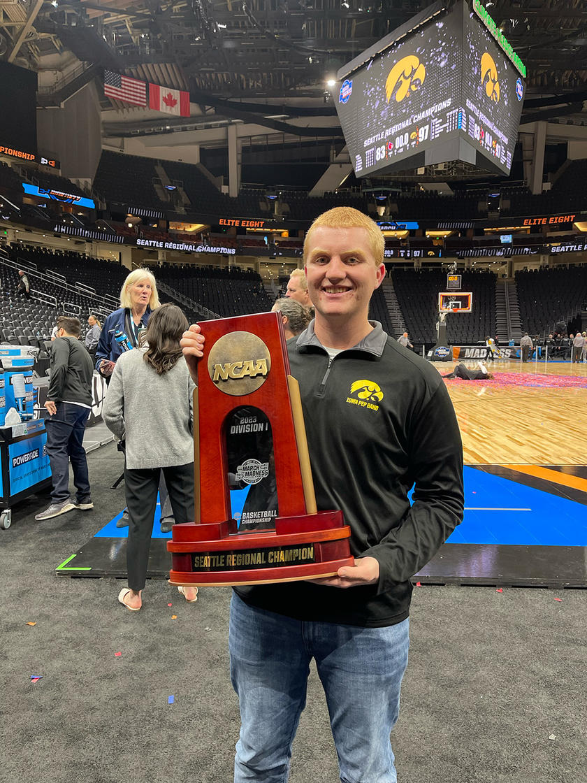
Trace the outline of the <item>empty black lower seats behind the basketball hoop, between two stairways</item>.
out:
[[[446,272],[394,269],[391,272],[405,325],[412,343],[434,343],[438,294],[446,290]],[[462,289],[473,294],[473,312],[447,316],[450,345],[470,345],[495,337],[495,275],[463,272]]]

